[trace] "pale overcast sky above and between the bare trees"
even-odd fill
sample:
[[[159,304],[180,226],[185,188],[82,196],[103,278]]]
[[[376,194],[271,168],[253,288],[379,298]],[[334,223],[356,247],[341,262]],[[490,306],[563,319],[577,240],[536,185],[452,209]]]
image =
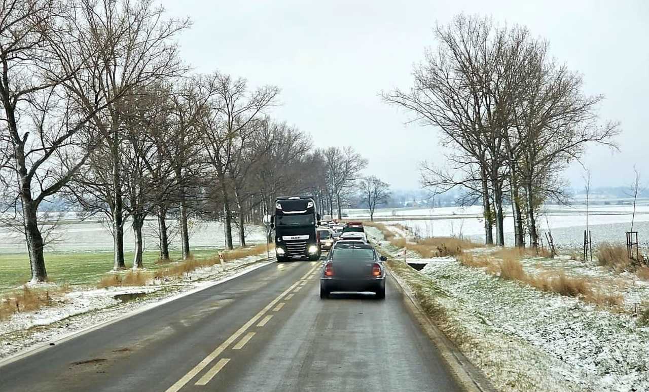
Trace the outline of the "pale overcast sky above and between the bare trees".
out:
[[[622,123],[620,152],[592,148],[594,185],[628,185],[633,165],[649,185],[649,2],[637,1],[212,1],[162,0],[188,16],[181,53],[197,72],[218,69],[252,86],[282,89],[277,119],[310,132],[317,146],[350,145],[398,189],[419,187],[418,166],[443,163],[438,131],[404,125],[407,113],[378,94],[411,86],[411,69],[434,45],[432,27],[459,12],[526,25],[550,52],[604,94],[604,119]],[[534,3],[532,5],[532,3]],[[582,186],[582,170],[566,173]]]

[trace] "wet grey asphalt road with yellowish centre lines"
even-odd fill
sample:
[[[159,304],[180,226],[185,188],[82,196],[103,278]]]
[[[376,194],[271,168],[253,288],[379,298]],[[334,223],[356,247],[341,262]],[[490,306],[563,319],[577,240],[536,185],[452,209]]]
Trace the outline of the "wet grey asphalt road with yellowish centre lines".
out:
[[[319,298],[270,264],[0,367],[0,391],[459,391],[389,279]]]

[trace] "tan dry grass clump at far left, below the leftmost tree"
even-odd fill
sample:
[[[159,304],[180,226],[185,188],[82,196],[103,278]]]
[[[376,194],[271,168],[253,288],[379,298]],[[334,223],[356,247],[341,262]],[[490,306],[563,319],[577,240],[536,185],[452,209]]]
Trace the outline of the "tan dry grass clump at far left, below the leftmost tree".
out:
[[[11,317],[17,312],[30,312],[52,305],[55,299],[60,299],[63,294],[70,291],[69,286],[48,288],[47,290],[23,286],[23,290],[0,297],[0,320]]]

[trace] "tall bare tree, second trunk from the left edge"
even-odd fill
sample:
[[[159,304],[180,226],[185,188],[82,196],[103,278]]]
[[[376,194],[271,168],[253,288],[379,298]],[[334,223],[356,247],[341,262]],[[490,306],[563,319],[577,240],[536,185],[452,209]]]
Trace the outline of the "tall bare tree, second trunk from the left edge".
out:
[[[184,67],[177,58],[174,36],[188,27],[187,20],[164,19],[164,8],[152,0],[103,0],[75,2],[71,23],[80,32],[79,53],[87,72],[75,73],[66,82],[75,91],[77,103],[90,114],[92,102],[106,100],[108,106],[92,113],[92,140],[103,144],[104,165],[98,170],[110,170],[110,177],[97,174],[101,183],[86,186],[80,196],[97,199],[101,196],[110,207],[114,236],[114,269],[125,267],[123,249],[124,183],[121,149],[125,143],[123,108],[125,99],[137,87],[180,74]],[[65,48],[60,48],[64,51]],[[97,177],[95,176],[95,177]],[[101,190],[100,190],[101,189]],[[97,192],[91,196],[88,192]],[[88,203],[86,203],[88,205]]]

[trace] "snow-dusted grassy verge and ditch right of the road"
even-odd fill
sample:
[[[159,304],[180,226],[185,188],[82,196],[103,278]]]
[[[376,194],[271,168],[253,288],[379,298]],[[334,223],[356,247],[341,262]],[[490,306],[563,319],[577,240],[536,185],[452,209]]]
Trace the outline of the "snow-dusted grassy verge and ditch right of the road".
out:
[[[393,255],[400,251],[383,248]],[[409,273],[430,288],[428,300],[444,314],[440,329],[498,389],[649,390],[649,327],[629,311],[649,299],[649,285],[635,275],[565,257],[522,260],[528,273],[563,269],[609,284],[625,300],[626,311],[614,312],[500,279],[451,257],[419,261],[427,262],[421,273]]]

